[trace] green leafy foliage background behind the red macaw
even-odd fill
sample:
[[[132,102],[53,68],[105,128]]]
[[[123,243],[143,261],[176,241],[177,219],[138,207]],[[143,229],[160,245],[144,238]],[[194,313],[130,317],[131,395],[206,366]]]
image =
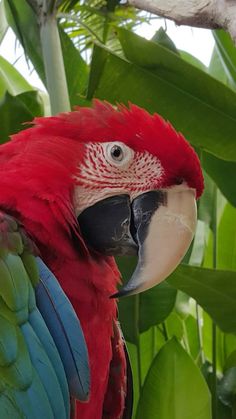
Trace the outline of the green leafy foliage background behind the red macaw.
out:
[[[93,97],[131,101],[170,120],[195,147],[205,192],[191,248],[163,284],[119,303],[134,374],[133,418],[234,419],[236,48],[215,31],[205,67],[163,28],[150,41],[138,36],[136,27],[150,19],[157,17],[117,0],[2,0],[0,42],[11,27],[52,114]],[[0,57],[0,141],[48,107],[45,94]],[[135,260],[118,264],[126,280]]]

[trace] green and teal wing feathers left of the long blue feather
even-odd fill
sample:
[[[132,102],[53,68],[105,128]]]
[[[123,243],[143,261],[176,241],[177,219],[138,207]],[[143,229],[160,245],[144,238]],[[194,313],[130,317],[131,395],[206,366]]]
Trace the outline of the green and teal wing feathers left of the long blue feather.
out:
[[[62,362],[35,304],[38,281],[30,241],[13,218],[1,214],[1,419],[69,417]]]

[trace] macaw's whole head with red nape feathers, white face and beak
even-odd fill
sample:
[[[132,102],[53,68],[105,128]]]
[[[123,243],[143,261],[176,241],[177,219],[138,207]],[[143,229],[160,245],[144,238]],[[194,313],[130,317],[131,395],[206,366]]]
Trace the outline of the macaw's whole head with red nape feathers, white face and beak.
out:
[[[70,207],[91,252],[138,255],[131,279],[114,296],[144,291],[180,263],[195,232],[203,176],[193,148],[158,114],[96,100],[92,108],[36,118],[14,136],[14,156],[17,142],[27,187],[38,185],[50,202],[68,196],[57,213],[64,211],[66,223]]]

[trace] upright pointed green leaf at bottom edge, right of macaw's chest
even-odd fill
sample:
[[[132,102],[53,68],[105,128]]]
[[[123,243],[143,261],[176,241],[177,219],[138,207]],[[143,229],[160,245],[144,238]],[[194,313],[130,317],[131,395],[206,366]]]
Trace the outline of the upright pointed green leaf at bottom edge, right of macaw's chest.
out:
[[[170,340],[155,357],[139,400],[136,419],[157,417],[211,419],[207,384],[175,339]]]

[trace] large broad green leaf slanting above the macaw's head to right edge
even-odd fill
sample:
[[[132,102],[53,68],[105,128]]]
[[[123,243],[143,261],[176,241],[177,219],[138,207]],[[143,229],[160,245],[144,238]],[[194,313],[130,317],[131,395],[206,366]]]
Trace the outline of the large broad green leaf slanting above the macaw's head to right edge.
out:
[[[236,94],[154,42],[124,29],[119,38],[129,61],[107,54],[95,96],[158,112],[193,145],[236,160]]]

